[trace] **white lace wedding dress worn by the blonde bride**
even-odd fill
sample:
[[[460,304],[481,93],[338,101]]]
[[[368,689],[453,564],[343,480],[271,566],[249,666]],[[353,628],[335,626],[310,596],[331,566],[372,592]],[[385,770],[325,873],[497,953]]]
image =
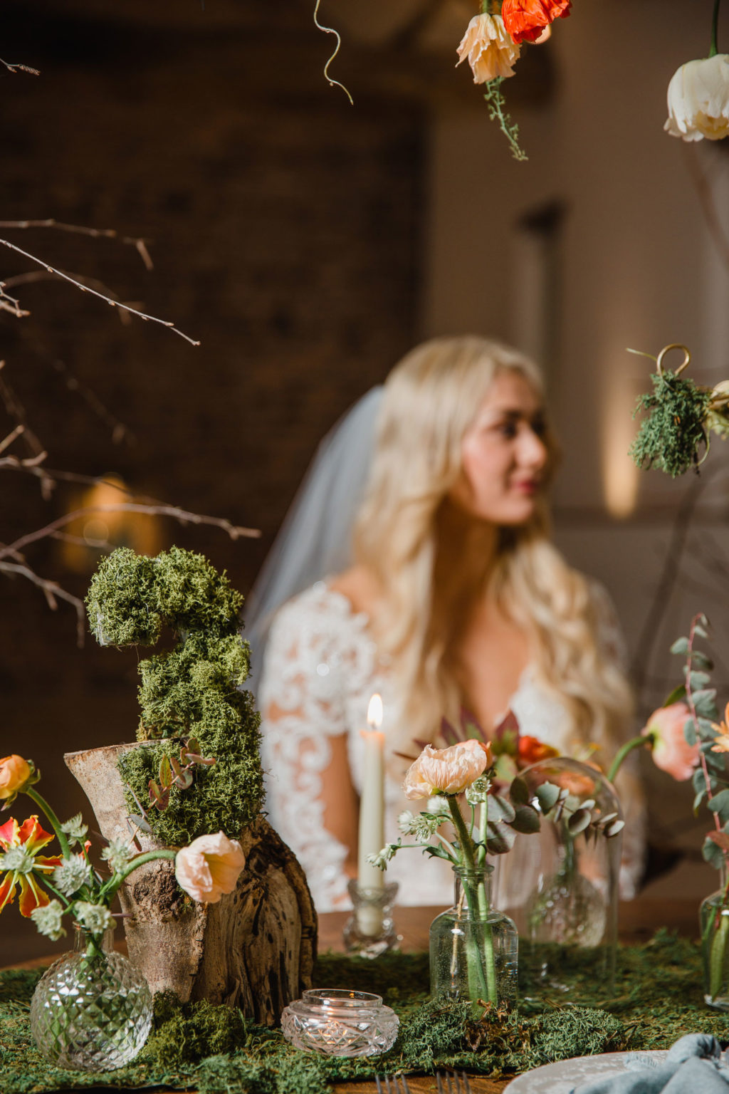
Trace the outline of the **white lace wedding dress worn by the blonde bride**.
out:
[[[374,691],[383,697],[386,740],[388,728],[400,724],[388,660],[378,654],[367,621],[345,596],[317,582],[285,604],[273,620],[258,687],[271,823],[304,866],[319,911],[350,906],[344,872],[348,850],[325,826],[321,796],[332,742],[345,740],[352,782],[358,793],[363,745],[358,731],[366,725],[367,703]],[[615,649],[620,644],[614,626],[613,632],[605,635],[608,643]],[[565,754],[579,744],[569,738],[564,707],[539,686],[531,666],[522,673],[509,706],[522,733]],[[416,752],[413,746],[413,755]],[[413,803],[404,799],[399,781],[390,775],[386,775],[385,799],[385,839],[395,841],[398,815]],[[639,826],[636,830],[635,846],[627,854],[626,891],[639,873]],[[420,851],[401,851],[389,863],[387,877],[399,882],[401,905],[450,903],[452,875],[443,860],[430,859],[425,865]]]

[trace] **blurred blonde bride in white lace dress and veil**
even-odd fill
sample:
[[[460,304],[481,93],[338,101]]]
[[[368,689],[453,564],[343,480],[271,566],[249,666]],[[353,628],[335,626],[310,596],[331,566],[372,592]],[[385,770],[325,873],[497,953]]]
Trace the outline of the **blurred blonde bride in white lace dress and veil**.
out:
[[[254,590],[247,632],[254,664],[262,656],[268,808],[320,911],[348,907],[356,875],[360,730],[373,693],[385,709],[387,841],[408,806],[407,761],[395,754],[434,741],[462,706],[486,730],[510,709],[522,734],[566,755],[595,746],[605,765],[630,735],[610,601],[549,538],[554,465],[538,369],[480,337],[412,350],[319,453]],[[630,772],[619,789],[633,822],[631,896],[642,798]],[[449,903],[440,860],[403,852],[387,878],[400,904]]]

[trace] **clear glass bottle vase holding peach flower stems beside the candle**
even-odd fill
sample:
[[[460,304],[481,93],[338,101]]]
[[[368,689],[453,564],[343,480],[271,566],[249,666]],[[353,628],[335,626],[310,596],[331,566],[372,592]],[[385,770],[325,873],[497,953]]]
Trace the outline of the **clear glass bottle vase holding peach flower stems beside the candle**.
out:
[[[486,865],[454,866],[454,907],[431,924],[431,994],[433,999],[473,1003],[517,1000],[517,929],[491,905]]]

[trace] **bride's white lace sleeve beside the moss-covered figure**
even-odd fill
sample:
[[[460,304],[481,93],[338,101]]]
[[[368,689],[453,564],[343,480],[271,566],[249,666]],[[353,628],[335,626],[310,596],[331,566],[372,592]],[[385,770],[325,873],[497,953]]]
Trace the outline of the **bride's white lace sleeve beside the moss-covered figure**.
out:
[[[302,863],[319,911],[349,905],[349,849],[325,827],[324,796],[332,758],[346,749],[340,624],[306,593],[284,605],[259,686],[271,823]]]

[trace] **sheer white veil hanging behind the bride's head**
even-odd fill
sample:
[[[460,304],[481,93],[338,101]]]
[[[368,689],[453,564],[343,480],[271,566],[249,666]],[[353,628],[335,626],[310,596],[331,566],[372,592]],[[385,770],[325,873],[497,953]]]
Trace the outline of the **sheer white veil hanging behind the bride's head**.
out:
[[[352,525],[369,472],[383,388],[373,387],[319,443],[244,608],[251,677],[260,679],[278,608],[315,581],[345,570]]]

